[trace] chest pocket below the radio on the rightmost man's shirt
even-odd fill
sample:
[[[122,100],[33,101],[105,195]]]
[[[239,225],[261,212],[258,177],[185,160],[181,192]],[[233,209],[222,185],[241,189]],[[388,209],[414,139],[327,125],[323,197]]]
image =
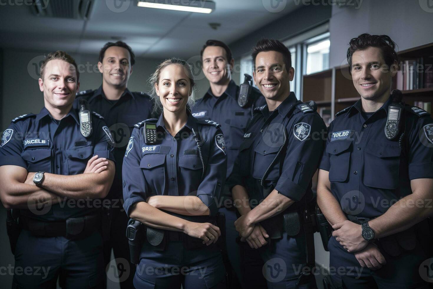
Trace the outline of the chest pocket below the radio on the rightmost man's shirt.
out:
[[[398,186],[401,148],[369,142],[364,153],[364,185],[394,189]]]

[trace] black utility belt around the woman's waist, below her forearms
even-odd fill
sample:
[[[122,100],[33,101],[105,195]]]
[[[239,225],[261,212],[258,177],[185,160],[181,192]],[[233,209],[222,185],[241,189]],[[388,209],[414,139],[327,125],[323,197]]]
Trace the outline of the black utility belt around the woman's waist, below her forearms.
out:
[[[183,232],[157,229],[141,224],[134,219],[129,219],[128,227],[126,228],[126,237],[129,240],[131,263],[139,263],[139,256],[144,242],[152,245],[154,251],[164,251],[169,241],[182,241],[184,242],[184,248],[188,250],[201,249],[213,245],[218,245],[221,248],[225,247],[226,232],[225,216],[223,214],[217,214],[214,218],[209,218],[206,219],[206,221],[197,223],[210,223],[219,227],[221,236],[218,238],[218,242],[207,246],[203,244],[203,240],[191,237]]]

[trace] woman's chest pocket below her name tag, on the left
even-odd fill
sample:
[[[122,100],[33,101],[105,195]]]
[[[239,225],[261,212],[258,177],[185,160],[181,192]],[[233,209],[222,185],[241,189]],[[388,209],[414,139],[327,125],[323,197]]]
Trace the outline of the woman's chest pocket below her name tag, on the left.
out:
[[[168,181],[165,168],[165,153],[148,153],[140,161],[146,182],[154,195],[163,195]]]

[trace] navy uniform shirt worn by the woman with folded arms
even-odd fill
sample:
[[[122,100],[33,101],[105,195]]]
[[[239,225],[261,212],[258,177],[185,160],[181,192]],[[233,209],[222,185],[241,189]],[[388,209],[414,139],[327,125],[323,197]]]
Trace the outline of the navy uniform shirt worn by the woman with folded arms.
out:
[[[123,159],[126,214],[130,214],[132,204],[146,201],[151,195],[197,195],[209,208],[210,215],[215,216],[227,169],[226,148],[219,125],[210,120],[197,120],[188,113],[187,123],[173,137],[165,128],[161,114],[156,123],[158,140],[152,145],[145,144],[145,129],[138,127],[132,131]],[[203,166],[192,130],[200,137],[206,168],[201,182]]]

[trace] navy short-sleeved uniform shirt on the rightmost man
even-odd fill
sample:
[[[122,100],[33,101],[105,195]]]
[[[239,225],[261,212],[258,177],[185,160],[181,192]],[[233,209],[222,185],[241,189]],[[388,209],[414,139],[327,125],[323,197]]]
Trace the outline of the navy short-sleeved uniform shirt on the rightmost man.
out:
[[[410,180],[433,178],[433,120],[405,106],[406,130],[388,140],[385,123],[391,97],[374,114],[362,114],[361,100],[330,124],[320,169],[329,171],[331,192],[346,214],[373,218],[412,193]]]

